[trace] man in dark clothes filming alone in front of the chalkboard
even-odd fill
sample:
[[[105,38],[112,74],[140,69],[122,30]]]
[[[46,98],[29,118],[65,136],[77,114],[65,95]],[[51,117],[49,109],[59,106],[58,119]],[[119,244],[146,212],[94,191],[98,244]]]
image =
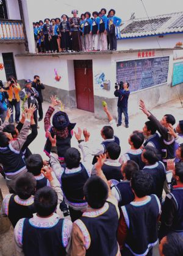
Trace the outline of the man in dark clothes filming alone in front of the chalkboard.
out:
[[[127,101],[129,98],[129,82],[120,82],[115,85],[115,97],[118,97],[118,123],[117,126],[122,124],[122,113],[124,114],[125,127],[128,128],[128,114],[127,114]]]

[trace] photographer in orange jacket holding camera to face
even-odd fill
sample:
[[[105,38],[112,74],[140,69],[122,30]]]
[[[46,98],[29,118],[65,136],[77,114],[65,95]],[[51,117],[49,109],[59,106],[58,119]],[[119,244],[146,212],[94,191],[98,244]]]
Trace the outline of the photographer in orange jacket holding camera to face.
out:
[[[5,86],[7,93],[9,95],[8,105],[9,108],[12,109],[13,112],[13,106],[15,107],[15,122],[19,123],[20,119],[20,96],[19,92],[21,90],[20,85],[18,82],[16,82],[16,79],[13,77],[10,77],[7,80],[7,84]],[[13,123],[13,114],[10,117],[10,123]]]

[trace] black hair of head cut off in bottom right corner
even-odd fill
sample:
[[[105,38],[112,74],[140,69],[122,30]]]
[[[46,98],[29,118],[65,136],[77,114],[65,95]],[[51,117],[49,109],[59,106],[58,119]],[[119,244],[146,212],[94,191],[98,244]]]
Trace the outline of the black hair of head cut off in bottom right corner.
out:
[[[162,253],[164,256],[182,256],[183,238],[179,233],[172,232],[167,235],[167,243],[163,244]]]

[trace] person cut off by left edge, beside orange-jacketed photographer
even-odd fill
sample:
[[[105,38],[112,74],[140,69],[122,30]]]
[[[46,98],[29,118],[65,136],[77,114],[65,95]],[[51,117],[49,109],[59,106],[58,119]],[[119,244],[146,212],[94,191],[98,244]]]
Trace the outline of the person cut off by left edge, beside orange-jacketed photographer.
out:
[[[7,103],[6,103],[6,99],[9,98],[8,93],[6,92],[2,81],[0,80],[0,119],[1,119],[1,124],[4,122],[4,119],[6,117],[7,114]]]

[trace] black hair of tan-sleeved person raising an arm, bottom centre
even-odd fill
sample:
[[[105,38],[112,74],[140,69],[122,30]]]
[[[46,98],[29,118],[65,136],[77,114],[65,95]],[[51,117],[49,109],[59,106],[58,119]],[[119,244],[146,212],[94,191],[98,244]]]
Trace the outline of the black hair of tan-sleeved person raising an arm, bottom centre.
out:
[[[91,208],[99,209],[103,207],[108,197],[108,186],[98,176],[88,178],[84,185],[84,196]]]

